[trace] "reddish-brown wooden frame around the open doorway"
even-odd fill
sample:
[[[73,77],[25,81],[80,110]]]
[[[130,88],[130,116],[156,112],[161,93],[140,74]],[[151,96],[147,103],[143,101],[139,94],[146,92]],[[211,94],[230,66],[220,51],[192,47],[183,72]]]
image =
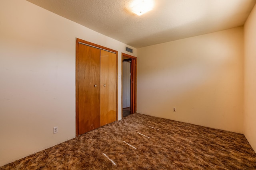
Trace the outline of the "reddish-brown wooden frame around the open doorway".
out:
[[[121,70],[122,70],[122,84],[123,84],[123,60],[124,59],[131,59],[131,114],[137,112],[137,57],[134,57],[132,55],[128,55],[125,53],[122,53],[122,64],[121,64]],[[122,106],[122,117],[123,117],[123,86],[122,86],[122,93],[121,93],[121,106]]]

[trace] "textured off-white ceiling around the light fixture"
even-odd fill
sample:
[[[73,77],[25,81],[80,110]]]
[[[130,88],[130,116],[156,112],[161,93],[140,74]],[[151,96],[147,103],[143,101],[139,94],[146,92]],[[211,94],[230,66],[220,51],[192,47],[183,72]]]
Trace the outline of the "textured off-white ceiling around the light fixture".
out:
[[[154,0],[142,16],[132,0],[27,0],[132,47],[174,41],[244,25],[256,0]]]

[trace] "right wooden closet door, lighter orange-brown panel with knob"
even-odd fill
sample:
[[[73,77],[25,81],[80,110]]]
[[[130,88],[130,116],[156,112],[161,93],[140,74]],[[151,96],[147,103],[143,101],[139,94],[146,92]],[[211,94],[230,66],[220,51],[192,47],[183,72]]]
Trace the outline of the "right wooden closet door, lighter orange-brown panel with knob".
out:
[[[116,54],[100,50],[100,126],[116,121]]]

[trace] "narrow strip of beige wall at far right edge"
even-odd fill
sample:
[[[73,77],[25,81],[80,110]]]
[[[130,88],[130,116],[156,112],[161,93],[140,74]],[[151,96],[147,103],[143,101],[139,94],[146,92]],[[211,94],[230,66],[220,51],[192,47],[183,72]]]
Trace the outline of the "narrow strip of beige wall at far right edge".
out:
[[[244,25],[244,135],[256,151],[256,6]]]

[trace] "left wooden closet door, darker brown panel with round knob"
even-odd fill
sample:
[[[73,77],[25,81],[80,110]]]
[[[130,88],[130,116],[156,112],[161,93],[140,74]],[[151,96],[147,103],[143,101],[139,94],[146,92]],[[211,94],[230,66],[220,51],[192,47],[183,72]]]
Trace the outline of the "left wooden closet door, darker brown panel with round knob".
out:
[[[79,43],[78,133],[100,127],[100,49]]]

